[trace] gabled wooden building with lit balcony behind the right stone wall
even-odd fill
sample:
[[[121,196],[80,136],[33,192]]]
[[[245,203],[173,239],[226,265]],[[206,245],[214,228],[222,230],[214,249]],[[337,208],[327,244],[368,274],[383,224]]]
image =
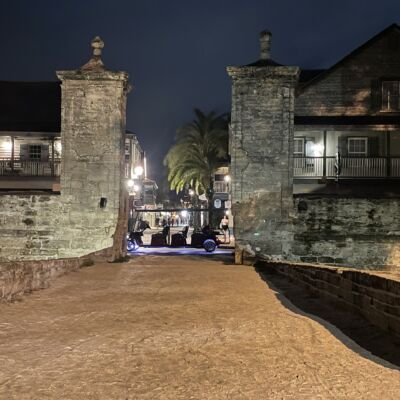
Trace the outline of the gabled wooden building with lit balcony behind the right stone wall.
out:
[[[400,27],[327,70],[302,70],[294,183],[400,178]]]

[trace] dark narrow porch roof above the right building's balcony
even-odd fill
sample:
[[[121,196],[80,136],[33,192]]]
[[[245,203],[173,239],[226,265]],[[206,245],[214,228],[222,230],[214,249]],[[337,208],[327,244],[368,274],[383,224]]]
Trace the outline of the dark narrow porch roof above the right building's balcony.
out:
[[[399,125],[400,115],[339,115],[294,117],[296,125]]]

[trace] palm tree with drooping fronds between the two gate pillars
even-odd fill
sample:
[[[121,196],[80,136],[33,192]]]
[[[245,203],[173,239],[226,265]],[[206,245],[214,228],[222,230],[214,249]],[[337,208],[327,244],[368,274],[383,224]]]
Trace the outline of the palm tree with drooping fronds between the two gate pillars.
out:
[[[195,109],[196,119],[177,130],[176,143],[169,149],[164,164],[168,167],[170,188],[177,193],[187,187],[205,194],[212,224],[214,174],[228,156],[228,118]]]

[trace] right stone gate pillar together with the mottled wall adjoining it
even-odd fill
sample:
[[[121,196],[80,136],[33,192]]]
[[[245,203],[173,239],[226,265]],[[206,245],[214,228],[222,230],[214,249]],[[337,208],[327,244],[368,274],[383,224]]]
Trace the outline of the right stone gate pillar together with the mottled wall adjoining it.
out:
[[[258,62],[227,68],[236,262],[249,255],[360,268],[399,266],[398,199],[293,196],[299,69],[269,58],[270,38],[261,34]]]

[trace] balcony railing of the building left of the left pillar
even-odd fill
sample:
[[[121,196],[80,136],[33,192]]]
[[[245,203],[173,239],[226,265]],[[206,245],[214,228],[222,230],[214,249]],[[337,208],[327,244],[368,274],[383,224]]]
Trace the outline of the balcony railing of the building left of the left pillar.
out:
[[[0,176],[60,176],[61,160],[0,159]]]

